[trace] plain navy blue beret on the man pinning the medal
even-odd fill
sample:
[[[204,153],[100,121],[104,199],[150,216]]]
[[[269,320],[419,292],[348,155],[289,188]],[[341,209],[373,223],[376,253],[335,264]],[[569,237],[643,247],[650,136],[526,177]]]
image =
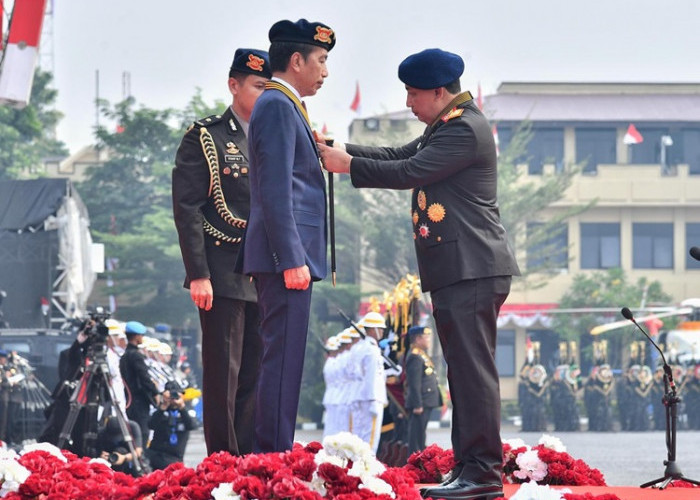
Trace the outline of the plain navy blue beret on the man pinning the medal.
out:
[[[440,49],[425,49],[399,64],[399,80],[416,89],[437,89],[458,80],[464,73],[464,61],[457,54]]]

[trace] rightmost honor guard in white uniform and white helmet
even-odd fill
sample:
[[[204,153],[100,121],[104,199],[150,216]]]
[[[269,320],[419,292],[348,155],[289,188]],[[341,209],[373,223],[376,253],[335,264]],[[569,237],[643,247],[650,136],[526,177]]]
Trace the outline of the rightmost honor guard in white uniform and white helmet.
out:
[[[368,443],[376,454],[387,404],[384,360],[377,342],[382,338],[386,324],[381,314],[369,312],[358,326],[365,330],[366,336],[357,344],[358,384],[352,406],[352,433]]]

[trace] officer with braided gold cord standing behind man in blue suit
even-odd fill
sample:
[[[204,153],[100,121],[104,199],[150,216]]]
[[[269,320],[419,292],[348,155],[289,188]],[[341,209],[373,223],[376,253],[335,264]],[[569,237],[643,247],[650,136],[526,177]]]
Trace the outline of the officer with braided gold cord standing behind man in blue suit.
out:
[[[262,342],[255,286],[234,272],[250,211],[248,142],[253,105],[272,76],[267,52],[238,49],[229,71],[233,103],[198,120],[175,158],[173,214],[202,326],[203,424],[209,454],[253,451]]]

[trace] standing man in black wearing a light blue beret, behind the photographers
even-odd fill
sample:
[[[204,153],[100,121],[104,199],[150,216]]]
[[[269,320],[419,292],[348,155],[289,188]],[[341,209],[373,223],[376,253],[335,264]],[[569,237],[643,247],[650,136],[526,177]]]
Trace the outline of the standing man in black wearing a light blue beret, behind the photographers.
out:
[[[146,357],[139,351],[139,344],[146,334],[146,327],[138,321],[127,321],[124,333],[126,333],[128,343],[124,355],[119,360],[119,371],[124,379],[127,401],[131,397],[131,404],[126,409],[126,415],[129,420],[133,420],[139,425],[143,440],[148,441],[148,416],[151,405],[158,405],[160,394],[148,373]]]

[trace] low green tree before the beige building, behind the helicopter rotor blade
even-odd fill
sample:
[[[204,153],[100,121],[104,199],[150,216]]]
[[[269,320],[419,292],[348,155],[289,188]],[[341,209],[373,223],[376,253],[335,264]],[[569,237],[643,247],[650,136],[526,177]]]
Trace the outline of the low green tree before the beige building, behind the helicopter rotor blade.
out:
[[[559,300],[559,308],[579,309],[581,312],[555,315],[553,330],[562,339],[580,341],[581,353],[590,362],[592,353],[586,346],[593,341],[590,335],[593,327],[613,318],[622,319],[619,314],[622,307],[668,305],[671,300],[658,281],[640,278],[636,283],[630,283],[619,268],[580,273],[574,276],[571,288]],[[622,366],[624,347],[637,335],[633,325],[600,335],[608,340],[608,361],[612,366]]]

